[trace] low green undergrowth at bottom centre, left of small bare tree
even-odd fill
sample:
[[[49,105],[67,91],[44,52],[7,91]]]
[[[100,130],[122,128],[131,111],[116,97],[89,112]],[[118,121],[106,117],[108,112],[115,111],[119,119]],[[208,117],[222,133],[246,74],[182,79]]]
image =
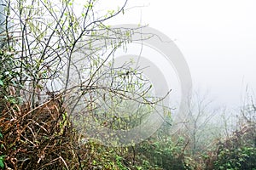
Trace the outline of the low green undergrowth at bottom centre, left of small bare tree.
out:
[[[175,139],[163,129],[163,125],[154,137],[135,146],[137,166],[143,169],[190,169],[189,157],[186,154],[186,142],[182,137]]]

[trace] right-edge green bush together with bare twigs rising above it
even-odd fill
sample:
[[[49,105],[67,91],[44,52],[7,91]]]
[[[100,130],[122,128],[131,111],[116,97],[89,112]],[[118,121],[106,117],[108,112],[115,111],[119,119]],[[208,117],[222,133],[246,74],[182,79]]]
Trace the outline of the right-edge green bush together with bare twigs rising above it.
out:
[[[252,101],[250,98],[237,116],[237,130],[219,140],[217,149],[207,156],[207,169],[256,169],[256,108]]]

